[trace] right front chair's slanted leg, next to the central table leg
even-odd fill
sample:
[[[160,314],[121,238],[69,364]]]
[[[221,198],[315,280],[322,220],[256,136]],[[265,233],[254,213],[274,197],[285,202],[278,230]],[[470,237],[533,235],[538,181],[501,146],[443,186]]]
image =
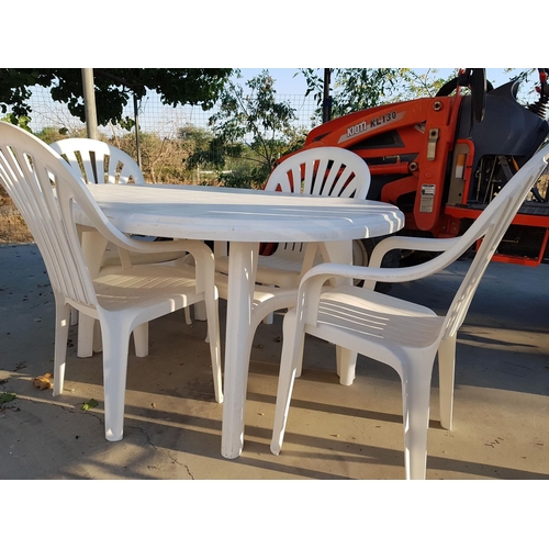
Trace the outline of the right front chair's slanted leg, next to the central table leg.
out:
[[[278,456],[284,439],[285,424],[290,411],[295,371],[303,360],[304,334],[296,334],[296,311],[290,310],[282,325],[283,345],[277,390],[277,406],[272,428],[271,452]]]

